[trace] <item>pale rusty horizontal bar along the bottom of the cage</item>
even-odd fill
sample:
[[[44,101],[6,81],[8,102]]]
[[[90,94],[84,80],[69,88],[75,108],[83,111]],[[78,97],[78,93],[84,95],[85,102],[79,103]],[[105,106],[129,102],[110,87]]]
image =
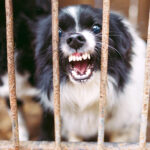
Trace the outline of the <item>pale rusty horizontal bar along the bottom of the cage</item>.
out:
[[[105,150],[139,150],[139,144],[129,143],[104,143]],[[19,150],[54,150],[55,142],[21,142]],[[96,150],[97,143],[61,143],[61,150]],[[13,150],[13,142],[0,141],[0,150]],[[146,150],[150,150],[150,143],[146,144]]]

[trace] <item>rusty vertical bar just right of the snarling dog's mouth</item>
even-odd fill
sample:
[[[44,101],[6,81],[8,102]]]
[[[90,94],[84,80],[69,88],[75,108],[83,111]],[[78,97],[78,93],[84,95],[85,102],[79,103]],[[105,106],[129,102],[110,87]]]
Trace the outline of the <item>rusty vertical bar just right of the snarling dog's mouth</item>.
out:
[[[108,42],[109,42],[109,11],[110,0],[103,0],[103,26],[101,49],[101,75],[100,75],[100,101],[99,101],[99,127],[98,149],[102,150],[104,143],[104,120],[107,88]]]

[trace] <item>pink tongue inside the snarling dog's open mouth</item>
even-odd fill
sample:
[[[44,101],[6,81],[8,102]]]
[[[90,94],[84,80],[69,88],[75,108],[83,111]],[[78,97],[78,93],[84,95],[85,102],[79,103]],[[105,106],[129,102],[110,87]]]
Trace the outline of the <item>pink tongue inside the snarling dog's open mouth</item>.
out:
[[[74,70],[80,74],[83,75],[86,73],[87,67],[88,67],[88,61],[76,61],[73,63]]]

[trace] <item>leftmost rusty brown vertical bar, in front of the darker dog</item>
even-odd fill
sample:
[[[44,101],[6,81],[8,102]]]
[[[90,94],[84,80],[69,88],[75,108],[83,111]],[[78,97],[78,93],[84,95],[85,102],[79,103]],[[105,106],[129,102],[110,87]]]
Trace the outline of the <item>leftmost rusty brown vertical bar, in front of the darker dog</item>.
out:
[[[14,35],[13,35],[13,8],[12,0],[5,0],[6,7],[6,30],[7,30],[7,63],[9,77],[9,96],[12,113],[12,129],[14,148],[19,149],[18,115],[16,102],[16,81],[14,63]]]

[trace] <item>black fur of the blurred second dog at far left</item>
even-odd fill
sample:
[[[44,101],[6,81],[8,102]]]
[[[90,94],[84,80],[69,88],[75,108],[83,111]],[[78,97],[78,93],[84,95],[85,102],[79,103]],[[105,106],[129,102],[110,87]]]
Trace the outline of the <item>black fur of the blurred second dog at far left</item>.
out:
[[[6,53],[6,19],[5,19],[5,1],[0,1],[0,78],[7,72],[7,53]],[[14,15],[14,37],[15,52],[18,53],[16,64],[17,71],[20,74],[30,73],[29,82],[34,85],[34,51],[33,35],[30,30],[31,22],[37,17],[50,13],[50,2],[45,0],[32,1],[13,1]],[[2,82],[2,81],[1,81]]]

